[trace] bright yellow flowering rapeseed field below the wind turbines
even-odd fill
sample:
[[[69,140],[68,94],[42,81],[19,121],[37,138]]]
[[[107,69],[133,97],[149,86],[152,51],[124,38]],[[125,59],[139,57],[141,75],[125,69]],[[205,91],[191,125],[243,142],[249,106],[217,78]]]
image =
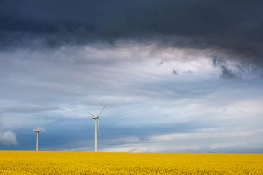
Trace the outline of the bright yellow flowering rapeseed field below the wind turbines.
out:
[[[263,154],[3,150],[0,174],[263,174]]]

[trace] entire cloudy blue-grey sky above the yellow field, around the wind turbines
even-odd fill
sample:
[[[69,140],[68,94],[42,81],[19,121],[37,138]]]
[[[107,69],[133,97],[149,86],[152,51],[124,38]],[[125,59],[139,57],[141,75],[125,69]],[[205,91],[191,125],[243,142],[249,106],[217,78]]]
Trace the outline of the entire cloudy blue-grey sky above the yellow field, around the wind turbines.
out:
[[[0,149],[263,153],[260,0],[1,0]]]

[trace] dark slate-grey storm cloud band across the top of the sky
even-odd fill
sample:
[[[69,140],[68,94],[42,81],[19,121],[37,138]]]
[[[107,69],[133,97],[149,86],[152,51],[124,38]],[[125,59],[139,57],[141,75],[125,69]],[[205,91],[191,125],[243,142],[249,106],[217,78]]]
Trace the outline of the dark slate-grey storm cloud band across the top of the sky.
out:
[[[217,49],[259,65],[262,5],[260,0],[2,0],[0,46],[136,39]]]

